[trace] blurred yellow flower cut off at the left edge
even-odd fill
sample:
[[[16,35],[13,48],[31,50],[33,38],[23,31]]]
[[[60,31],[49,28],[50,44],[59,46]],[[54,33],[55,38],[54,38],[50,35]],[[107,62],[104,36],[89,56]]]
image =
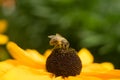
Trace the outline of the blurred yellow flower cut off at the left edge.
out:
[[[6,27],[6,20],[0,20],[0,44],[5,44],[8,42],[8,37],[6,35],[1,34],[6,30]]]

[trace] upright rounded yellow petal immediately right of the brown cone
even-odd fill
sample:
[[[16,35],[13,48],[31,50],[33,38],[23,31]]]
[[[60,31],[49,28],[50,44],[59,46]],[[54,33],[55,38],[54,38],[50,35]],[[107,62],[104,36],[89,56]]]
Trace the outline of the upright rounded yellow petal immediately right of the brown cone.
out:
[[[91,64],[94,61],[92,54],[86,48],[82,48],[78,52],[78,56],[80,57],[83,66]]]

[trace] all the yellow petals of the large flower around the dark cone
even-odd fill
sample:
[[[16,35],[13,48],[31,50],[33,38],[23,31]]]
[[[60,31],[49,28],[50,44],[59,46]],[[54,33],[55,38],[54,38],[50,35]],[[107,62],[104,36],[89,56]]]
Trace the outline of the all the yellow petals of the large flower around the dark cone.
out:
[[[34,49],[23,50],[14,42],[8,42],[7,49],[14,59],[0,62],[0,80],[120,80],[120,70],[109,62],[94,63],[86,48],[78,52],[83,65],[81,74],[65,78],[46,71],[46,59],[52,50],[41,55]]]

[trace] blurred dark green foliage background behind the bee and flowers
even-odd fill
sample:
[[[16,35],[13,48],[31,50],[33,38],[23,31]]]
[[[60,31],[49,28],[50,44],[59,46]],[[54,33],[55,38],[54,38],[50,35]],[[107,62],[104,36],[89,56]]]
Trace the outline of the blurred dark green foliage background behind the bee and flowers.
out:
[[[120,68],[120,0],[0,0],[0,18],[8,22],[6,35],[23,49],[44,53],[48,35],[59,33],[71,47],[85,47],[95,62]],[[0,60],[10,58],[0,45]]]

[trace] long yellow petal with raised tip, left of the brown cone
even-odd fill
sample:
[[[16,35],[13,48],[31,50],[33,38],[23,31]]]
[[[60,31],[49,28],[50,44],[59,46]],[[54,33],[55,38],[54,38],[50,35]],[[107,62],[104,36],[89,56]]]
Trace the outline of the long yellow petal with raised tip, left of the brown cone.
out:
[[[13,58],[24,65],[35,68],[45,68],[45,63],[41,61],[41,55],[39,53],[28,53],[14,42],[8,42],[7,49]]]

